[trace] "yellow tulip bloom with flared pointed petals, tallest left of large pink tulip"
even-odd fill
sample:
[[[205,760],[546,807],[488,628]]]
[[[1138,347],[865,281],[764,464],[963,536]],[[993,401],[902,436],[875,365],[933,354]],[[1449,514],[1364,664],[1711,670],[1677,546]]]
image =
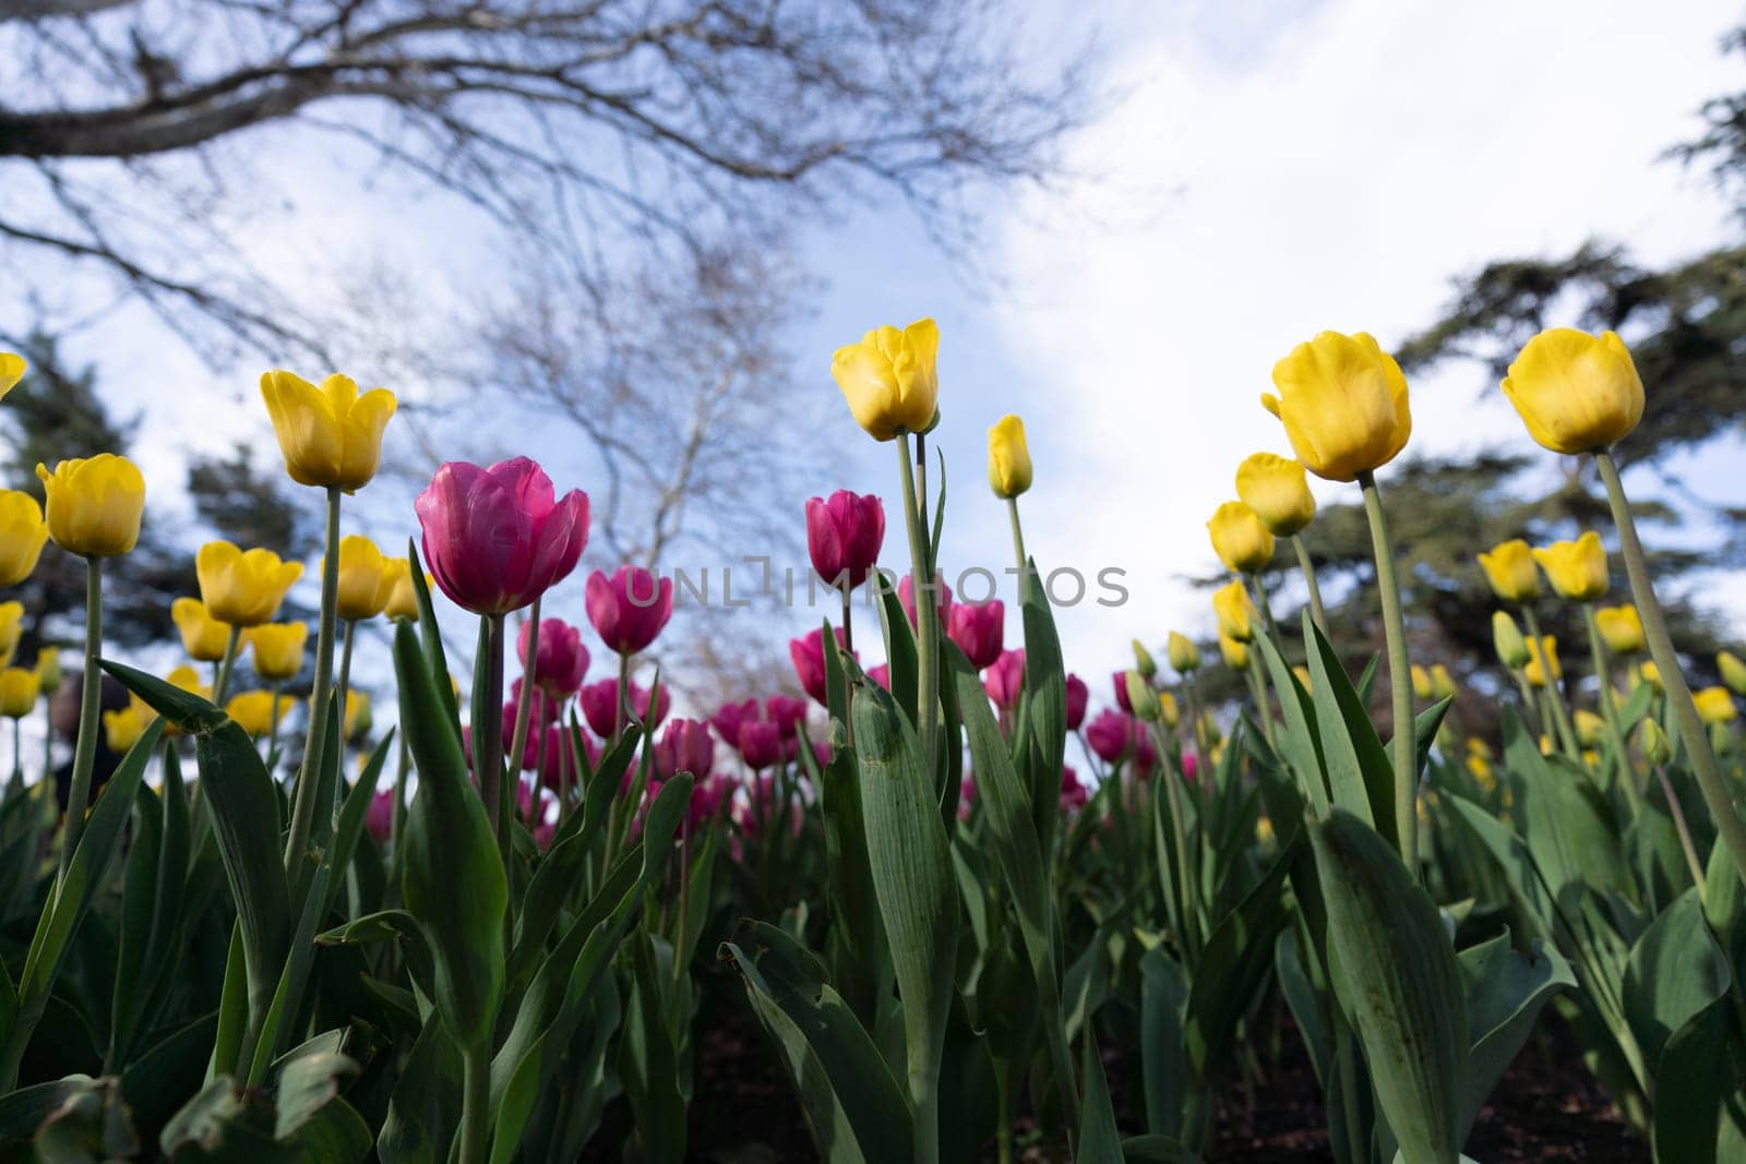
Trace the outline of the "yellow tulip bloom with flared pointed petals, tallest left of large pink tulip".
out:
[[[292,372],[267,372],[260,396],[293,482],[353,492],[375,476],[382,429],[400,407],[391,391],[374,387],[360,396],[358,382],[337,372],[320,387]]]

